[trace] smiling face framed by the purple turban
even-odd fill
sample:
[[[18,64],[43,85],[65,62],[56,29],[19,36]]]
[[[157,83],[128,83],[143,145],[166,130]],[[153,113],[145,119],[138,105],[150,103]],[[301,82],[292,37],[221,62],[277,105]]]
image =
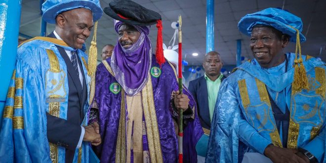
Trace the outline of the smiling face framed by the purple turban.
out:
[[[128,24],[122,24],[118,30],[119,42],[123,48],[128,48],[140,37],[140,32],[138,32],[133,26]]]

